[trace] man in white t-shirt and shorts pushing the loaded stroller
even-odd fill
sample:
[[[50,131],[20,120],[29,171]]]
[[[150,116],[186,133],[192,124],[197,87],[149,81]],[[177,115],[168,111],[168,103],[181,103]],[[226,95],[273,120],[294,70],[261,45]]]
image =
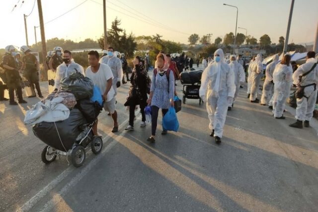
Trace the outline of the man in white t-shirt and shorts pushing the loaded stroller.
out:
[[[117,112],[115,110],[115,90],[112,86],[112,80],[114,79],[113,73],[108,65],[101,64],[99,61],[99,54],[97,51],[88,52],[89,67],[86,69],[86,77],[91,79],[94,86],[97,86],[100,93],[103,94],[104,109],[108,111],[113,120],[114,127],[112,132],[118,131]],[[97,135],[97,121],[93,126],[93,133]]]

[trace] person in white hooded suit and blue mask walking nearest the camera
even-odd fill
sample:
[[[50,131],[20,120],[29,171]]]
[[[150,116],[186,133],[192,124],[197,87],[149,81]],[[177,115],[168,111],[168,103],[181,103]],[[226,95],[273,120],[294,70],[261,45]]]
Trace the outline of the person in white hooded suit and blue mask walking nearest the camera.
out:
[[[199,95],[207,104],[209,128],[212,130],[210,135],[215,137],[217,144],[220,144],[228,112],[228,102],[233,101],[236,86],[234,71],[226,64],[222,49],[215,51],[214,59],[215,62],[210,64],[202,74]]]

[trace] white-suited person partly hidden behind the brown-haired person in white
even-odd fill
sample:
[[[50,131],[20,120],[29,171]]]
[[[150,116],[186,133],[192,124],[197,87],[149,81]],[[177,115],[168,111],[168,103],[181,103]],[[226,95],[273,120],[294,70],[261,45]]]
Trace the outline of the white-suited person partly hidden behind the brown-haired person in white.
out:
[[[264,81],[264,85],[263,85],[263,93],[262,93],[262,98],[260,100],[260,105],[262,106],[266,106],[269,104],[269,101],[272,98],[273,95],[273,91],[274,91],[274,83],[273,83],[273,73],[275,70],[275,66],[278,63],[278,54],[276,54],[273,57],[273,62],[271,62],[270,64],[268,64],[266,66],[266,70],[265,70],[265,81]]]

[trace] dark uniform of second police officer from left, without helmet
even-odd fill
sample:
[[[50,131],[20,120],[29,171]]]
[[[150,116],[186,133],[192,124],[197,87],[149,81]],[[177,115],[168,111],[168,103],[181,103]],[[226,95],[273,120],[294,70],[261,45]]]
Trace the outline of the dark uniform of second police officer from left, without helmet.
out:
[[[42,97],[40,84],[39,84],[39,72],[36,67],[37,59],[36,57],[29,53],[22,58],[23,63],[25,64],[24,77],[29,81],[32,89],[34,90],[34,85],[38,95]]]

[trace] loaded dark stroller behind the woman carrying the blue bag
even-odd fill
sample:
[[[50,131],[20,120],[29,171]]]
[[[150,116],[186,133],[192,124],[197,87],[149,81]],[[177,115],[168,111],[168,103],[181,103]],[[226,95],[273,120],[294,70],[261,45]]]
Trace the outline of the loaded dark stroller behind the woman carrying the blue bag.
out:
[[[201,76],[203,71],[190,71],[181,73],[181,84],[183,85],[182,102],[185,104],[186,99],[199,100],[201,105],[202,100],[199,95],[199,89],[201,86]]]

